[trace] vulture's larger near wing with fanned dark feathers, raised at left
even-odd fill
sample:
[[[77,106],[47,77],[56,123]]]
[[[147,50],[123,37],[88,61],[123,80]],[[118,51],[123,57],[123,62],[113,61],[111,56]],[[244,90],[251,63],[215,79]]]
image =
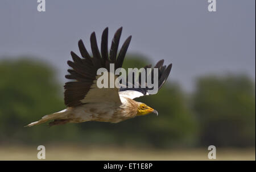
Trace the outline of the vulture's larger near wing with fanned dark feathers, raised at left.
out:
[[[93,57],[90,56],[84,46],[82,40],[79,41],[79,49],[82,58],[71,52],[73,61],[68,61],[68,65],[72,69],[68,69],[69,74],[65,75],[67,79],[75,79],[75,81],[66,82],[64,89],[64,101],[68,107],[80,106],[84,103],[95,102],[114,102],[121,103],[118,95],[118,89],[99,89],[97,83],[97,70],[99,68],[110,69],[110,64],[114,64],[114,68],[121,68],[127,48],[131,41],[129,36],[123,43],[117,56],[118,44],[122,32],[122,27],[115,32],[108,55],[108,28],[102,33],[101,53],[97,46],[96,35],[93,32],[90,35],[90,46],[92,48]]]

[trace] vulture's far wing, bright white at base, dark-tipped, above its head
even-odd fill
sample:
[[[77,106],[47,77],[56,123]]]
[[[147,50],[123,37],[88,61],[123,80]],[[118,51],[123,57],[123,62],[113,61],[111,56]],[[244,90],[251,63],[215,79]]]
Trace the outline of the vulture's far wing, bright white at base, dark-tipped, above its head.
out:
[[[164,82],[166,82],[166,79],[168,78],[171,69],[172,69],[172,64],[168,65],[166,67],[166,65],[163,66],[164,60],[160,60],[156,63],[154,68],[158,69],[158,90],[163,86]],[[147,68],[151,68],[151,65],[146,65],[144,66],[144,69]],[[146,71],[146,76],[150,75],[151,76],[151,81],[154,81],[154,73],[147,73]],[[142,79],[141,79],[141,74],[139,75],[139,77],[137,79],[134,79],[135,77],[133,77],[133,83],[129,83],[128,81],[126,81],[126,88],[120,88],[119,89],[119,95],[123,96],[123,97],[127,97],[130,99],[134,99],[134,98],[138,98],[138,97],[142,97],[144,95],[150,95],[150,91],[152,90],[152,88],[150,89],[147,86],[147,79],[146,79],[146,87],[142,87]],[[147,78],[147,77],[146,77]],[[134,86],[134,82],[138,82],[139,83],[139,87],[135,88]],[[130,85],[130,87],[128,87],[128,85]],[[133,87],[131,87],[131,85]]]

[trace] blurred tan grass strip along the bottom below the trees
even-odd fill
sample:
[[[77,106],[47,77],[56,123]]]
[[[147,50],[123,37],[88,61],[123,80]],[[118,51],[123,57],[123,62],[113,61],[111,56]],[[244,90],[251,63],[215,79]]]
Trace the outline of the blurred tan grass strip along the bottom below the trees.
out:
[[[37,146],[1,146],[0,160],[38,160]],[[216,160],[253,160],[255,148],[218,149]],[[137,149],[108,146],[46,145],[46,160],[209,160],[203,149]]]

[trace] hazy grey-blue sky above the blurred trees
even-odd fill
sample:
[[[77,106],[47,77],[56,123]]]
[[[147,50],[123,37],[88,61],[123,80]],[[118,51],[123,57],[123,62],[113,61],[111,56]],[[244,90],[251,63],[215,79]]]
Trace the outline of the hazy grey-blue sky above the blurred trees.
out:
[[[122,26],[121,43],[133,36],[128,52],[172,62],[170,81],[186,90],[212,73],[245,73],[255,81],[255,0],[216,2],[217,11],[209,12],[208,0],[46,0],[46,12],[38,12],[37,0],[1,0],[0,59],[35,56],[64,82],[79,39],[90,49],[90,33],[100,43],[109,27],[110,42]]]

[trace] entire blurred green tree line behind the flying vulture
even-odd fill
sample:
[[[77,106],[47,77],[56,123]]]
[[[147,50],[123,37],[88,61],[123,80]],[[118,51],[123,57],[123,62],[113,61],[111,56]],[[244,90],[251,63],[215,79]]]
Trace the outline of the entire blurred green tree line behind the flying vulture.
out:
[[[0,144],[97,144],[102,146],[255,146],[255,83],[246,75],[197,78],[186,94],[172,79],[156,95],[138,98],[158,110],[121,123],[86,122],[23,127],[65,108],[63,84],[43,62],[1,60]],[[124,68],[150,64],[128,55]],[[175,69],[173,69],[175,70]]]

